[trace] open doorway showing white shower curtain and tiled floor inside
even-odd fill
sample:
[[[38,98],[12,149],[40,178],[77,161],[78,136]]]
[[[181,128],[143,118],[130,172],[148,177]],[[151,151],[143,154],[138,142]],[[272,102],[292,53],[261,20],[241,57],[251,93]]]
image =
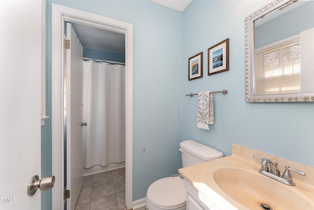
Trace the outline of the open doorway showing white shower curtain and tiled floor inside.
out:
[[[125,35],[65,25],[65,208],[125,209]]]

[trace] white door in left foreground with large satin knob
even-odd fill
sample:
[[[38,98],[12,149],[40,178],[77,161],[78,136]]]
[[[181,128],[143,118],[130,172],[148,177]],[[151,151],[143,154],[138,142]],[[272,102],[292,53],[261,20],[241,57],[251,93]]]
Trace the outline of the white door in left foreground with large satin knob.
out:
[[[41,209],[42,2],[4,0],[0,6],[0,210]]]

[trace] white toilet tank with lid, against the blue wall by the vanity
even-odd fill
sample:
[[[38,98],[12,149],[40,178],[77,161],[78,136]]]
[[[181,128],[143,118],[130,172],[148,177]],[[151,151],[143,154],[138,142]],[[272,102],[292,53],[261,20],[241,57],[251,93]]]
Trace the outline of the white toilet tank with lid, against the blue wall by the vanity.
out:
[[[221,151],[212,149],[193,140],[186,140],[180,143],[183,167],[207,162],[223,157]]]

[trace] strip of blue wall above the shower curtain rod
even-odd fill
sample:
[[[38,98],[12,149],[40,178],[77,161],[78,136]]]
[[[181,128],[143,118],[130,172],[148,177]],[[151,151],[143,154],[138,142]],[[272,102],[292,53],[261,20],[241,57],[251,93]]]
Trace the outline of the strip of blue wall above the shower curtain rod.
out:
[[[90,48],[83,48],[83,58],[108,60],[116,62],[126,62],[126,55],[122,53],[114,53]]]

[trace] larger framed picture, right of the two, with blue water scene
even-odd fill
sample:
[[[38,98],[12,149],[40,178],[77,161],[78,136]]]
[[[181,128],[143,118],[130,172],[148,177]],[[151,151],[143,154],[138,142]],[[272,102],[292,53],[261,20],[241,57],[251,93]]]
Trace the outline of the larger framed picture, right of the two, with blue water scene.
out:
[[[229,71],[229,38],[208,49],[208,75]]]

